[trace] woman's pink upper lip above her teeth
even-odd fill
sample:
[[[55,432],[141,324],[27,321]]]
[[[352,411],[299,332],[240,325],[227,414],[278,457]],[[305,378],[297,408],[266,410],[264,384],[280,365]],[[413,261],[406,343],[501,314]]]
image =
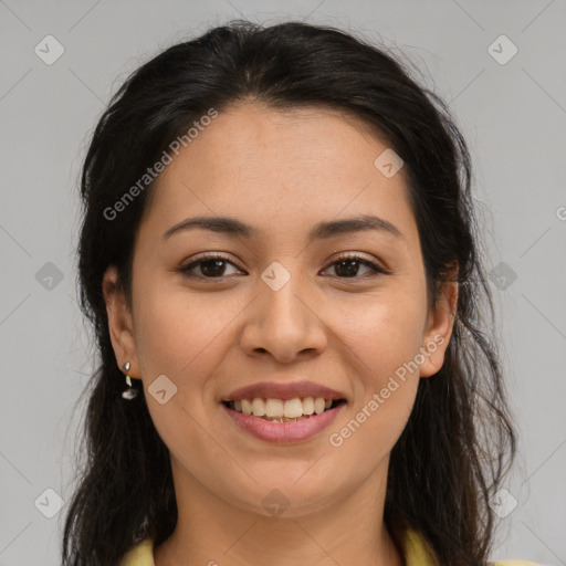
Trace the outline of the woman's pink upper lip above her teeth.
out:
[[[298,397],[324,397],[325,399],[346,399],[346,396],[336,389],[331,389],[314,381],[262,381],[233,390],[222,401],[235,401],[241,399],[294,399]]]

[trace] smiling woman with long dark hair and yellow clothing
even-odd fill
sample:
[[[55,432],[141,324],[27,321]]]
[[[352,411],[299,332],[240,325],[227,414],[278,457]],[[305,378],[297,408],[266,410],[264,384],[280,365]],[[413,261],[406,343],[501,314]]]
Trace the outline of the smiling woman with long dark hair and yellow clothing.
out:
[[[82,176],[64,564],[486,564],[516,432],[470,178],[442,101],[335,29],[138,69]]]

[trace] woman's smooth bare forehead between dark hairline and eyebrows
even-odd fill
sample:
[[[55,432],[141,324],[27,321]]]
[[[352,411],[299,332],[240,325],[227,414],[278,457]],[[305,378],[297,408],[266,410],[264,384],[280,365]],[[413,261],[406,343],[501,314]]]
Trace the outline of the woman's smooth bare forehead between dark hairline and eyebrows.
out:
[[[189,216],[231,216],[284,231],[340,216],[412,222],[402,169],[375,166],[387,142],[352,115],[240,104],[219,113],[157,180],[143,222],[170,228]]]

